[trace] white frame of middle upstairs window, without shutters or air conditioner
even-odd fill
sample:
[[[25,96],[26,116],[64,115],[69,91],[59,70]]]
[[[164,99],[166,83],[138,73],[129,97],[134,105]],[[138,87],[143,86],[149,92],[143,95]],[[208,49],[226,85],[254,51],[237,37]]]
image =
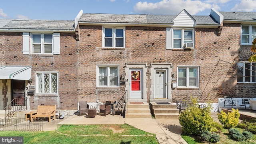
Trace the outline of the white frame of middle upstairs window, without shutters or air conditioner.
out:
[[[112,28],[112,44],[113,47],[105,46],[105,28]],[[124,37],[124,46],[116,47],[116,31],[115,29],[123,29],[123,37]],[[102,47],[103,48],[125,48],[125,27],[110,27],[110,26],[102,26]]]

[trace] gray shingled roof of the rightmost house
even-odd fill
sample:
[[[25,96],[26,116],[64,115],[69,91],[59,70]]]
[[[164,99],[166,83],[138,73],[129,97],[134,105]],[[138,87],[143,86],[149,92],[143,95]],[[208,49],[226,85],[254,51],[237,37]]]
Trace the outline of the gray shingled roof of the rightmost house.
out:
[[[256,20],[256,12],[220,12],[224,20]]]

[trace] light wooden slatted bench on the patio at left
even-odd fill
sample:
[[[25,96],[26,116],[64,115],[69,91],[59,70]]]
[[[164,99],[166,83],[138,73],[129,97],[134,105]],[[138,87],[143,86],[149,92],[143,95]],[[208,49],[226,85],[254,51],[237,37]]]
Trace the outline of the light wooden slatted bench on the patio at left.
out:
[[[32,122],[34,118],[48,117],[49,122],[51,122],[51,120],[55,120],[56,118],[55,113],[56,113],[56,105],[52,105],[52,106],[38,105],[36,111],[30,112],[30,121]]]

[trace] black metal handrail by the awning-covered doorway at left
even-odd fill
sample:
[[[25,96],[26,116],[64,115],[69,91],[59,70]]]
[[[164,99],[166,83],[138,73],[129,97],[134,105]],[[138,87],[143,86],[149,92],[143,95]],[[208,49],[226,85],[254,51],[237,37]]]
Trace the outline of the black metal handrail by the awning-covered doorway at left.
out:
[[[10,104],[8,104],[5,110],[5,122],[11,118],[15,112],[21,112],[28,109],[27,97],[25,98],[14,98]],[[7,112],[8,111],[8,112]]]

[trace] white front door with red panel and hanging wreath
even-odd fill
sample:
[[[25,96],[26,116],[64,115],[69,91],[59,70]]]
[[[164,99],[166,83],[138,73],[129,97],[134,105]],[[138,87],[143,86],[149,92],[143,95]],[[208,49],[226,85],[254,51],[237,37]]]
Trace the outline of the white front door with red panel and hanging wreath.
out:
[[[142,99],[142,70],[130,69],[130,99]]]

